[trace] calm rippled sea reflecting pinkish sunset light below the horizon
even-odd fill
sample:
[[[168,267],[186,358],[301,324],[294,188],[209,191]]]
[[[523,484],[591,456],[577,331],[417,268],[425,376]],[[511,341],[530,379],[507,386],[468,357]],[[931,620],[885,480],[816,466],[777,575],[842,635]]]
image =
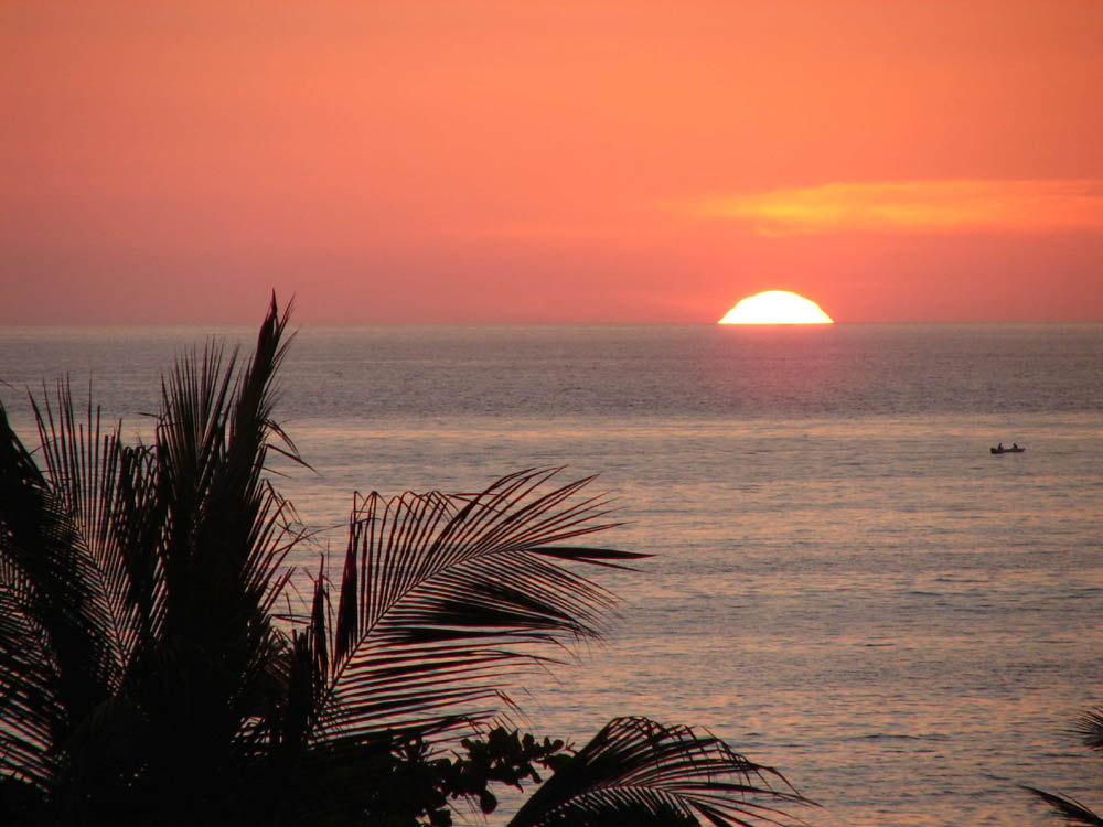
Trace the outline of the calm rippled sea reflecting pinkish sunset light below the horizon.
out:
[[[90,376],[137,432],[206,333],[0,330],[0,398],[25,426],[24,385]],[[606,541],[656,557],[602,579],[607,644],[518,691],[535,732],[705,726],[823,827],[1046,824],[1018,784],[1103,805],[1067,733],[1103,702],[1103,325],[304,329],[280,410],[318,526],[353,490],[600,473]]]

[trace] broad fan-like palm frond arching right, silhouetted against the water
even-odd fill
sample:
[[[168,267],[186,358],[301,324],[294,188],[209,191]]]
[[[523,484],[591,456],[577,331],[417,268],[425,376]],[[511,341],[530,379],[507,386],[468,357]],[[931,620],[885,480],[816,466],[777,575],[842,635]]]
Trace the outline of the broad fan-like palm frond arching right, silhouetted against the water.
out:
[[[611,527],[579,480],[557,469],[502,477],[470,496],[357,501],[331,629],[324,729],[377,733],[493,718],[508,678],[574,641],[597,637],[604,589],[560,561],[617,565],[644,555],[561,544]]]

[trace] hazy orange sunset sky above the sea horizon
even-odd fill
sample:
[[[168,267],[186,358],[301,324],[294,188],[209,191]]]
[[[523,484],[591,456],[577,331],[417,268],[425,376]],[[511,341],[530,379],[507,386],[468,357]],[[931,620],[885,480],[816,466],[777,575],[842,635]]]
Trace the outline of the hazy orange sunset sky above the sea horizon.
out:
[[[1103,320],[1103,2],[0,0],[0,324]]]

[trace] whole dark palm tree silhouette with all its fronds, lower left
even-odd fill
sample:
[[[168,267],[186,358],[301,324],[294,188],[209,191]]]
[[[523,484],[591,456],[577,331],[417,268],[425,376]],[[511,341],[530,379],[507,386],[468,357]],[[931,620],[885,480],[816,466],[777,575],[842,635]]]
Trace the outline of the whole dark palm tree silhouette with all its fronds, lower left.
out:
[[[570,567],[643,557],[577,543],[613,525],[589,480],[357,497],[343,559],[297,599],[304,535],[266,473],[303,462],[272,416],[289,310],[272,297],[240,367],[216,343],[179,359],[148,443],[61,383],[32,400],[40,469],[0,406],[0,820],[450,824],[537,767],[511,825],[810,803],[686,727],[618,718],[577,752],[508,728],[511,681],[613,606]]]

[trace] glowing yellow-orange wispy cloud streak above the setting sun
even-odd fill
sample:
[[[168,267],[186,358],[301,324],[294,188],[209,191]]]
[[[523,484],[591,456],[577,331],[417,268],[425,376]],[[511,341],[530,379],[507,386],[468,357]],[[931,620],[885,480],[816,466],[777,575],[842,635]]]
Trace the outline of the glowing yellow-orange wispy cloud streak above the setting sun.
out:
[[[831,183],[705,197],[693,212],[762,235],[1103,229],[1103,181]]]

